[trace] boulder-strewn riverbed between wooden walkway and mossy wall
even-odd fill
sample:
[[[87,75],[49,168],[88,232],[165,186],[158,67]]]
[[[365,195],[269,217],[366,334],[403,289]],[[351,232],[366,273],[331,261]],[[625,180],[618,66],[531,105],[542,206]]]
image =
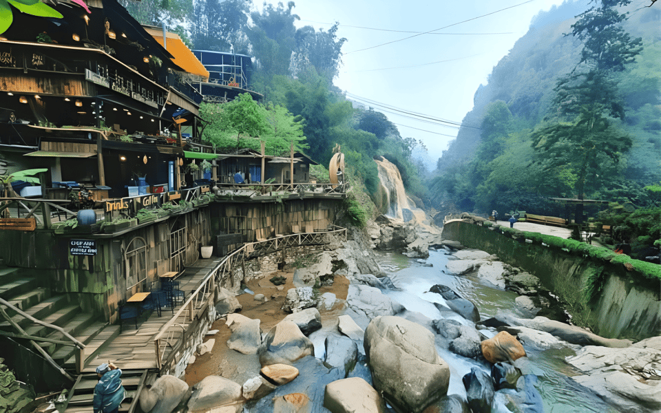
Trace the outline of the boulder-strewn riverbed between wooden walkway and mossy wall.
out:
[[[353,234],[307,268],[268,274],[238,297],[227,294],[184,380],[158,379],[140,396],[143,410],[543,412],[532,374],[538,370],[526,356],[554,348],[576,354],[567,358],[577,369],[567,380],[591,389],[616,406],[613,411],[661,410],[661,337],[631,346],[569,326],[555,317],[552,297],[534,276],[443,242],[433,227],[422,237],[415,231],[392,237],[407,230],[391,224],[381,225],[379,235],[371,231],[373,245],[405,240],[396,248],[414,256],[441,248],[450,256],[446,272],[516,292],[516,308],[481,317],[474,303],[438,284],[428,294],[437,297],[440,318],[407,311],[384,294],[395,285],[376,276],[383,273],[369,242]],[[410,248],[416,242],[420,246]],[[275,275],[284,284],[269,281]],[[461,377],[465,394],[446,395],[454,369],[439,351],[476,366]]]

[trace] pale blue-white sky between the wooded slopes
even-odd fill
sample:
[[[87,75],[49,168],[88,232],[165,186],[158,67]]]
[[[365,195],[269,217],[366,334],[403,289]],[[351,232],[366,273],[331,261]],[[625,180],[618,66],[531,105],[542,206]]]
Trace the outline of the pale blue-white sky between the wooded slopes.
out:
[[[328,30],[335,21],[340,23],[337,35],[348,41],[342,47],[343,65],[335,85],[348,98],[371,100],[371,106],[386,114],[403,138],[422,140],[430,169],[434,169],[458,129],[407,118],[377,104],[461,123],[472,109],[476,89],[487,83],[494,65],[527,32],[533,17],[561,3],[563,0],[295,0],[293,12],[301,18],[298,27]],[[437,31],[414,36],[432,30]],[[414,37],[397,41],[409,36]],[[391,41],[395,43],[381,45]]]

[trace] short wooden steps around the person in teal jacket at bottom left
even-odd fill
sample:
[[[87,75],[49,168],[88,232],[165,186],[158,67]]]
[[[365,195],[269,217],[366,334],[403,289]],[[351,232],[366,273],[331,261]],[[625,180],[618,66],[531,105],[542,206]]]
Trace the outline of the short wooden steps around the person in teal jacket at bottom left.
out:
[[[122,413],[133,413],[138,403],[138,396],[145,384],[153,382],[156,373],[147,370],[122,370],[122,385],[126,390],[126,399],[119,406]],[[66,404],[65,413],[93,413],[94,386],[98,382],[96,373],[81,374],[71,389]]]

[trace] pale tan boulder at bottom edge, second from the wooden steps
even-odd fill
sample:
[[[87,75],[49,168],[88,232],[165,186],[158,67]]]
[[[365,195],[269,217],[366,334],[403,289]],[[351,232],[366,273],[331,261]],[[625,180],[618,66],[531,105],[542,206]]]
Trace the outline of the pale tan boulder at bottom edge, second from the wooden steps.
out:
[[[188,411],[197,412],[213,407],[231,405],[242,400],[241,385],[220,376],[207,376],[193,386]]]

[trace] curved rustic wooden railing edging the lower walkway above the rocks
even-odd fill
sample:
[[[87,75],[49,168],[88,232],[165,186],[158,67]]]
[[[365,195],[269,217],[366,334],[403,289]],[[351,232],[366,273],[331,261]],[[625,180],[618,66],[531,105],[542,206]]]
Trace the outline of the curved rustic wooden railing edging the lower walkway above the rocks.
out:
[[[253,257],[274,253],[275,251],[280,251],[282,248],[328,244],[330,242],[328,237],[331,234],[342,234],[344,235],[344,240],[346,240],[346,228],[333,225],[326,231],[283,235],[269,240],[250,242],[224,257],[209,272],[207,277],[204,277],[202,282],[200,282],[200,286],[191,294],[191,297],[185,301],[177,313],[172,316],[160,329],[156,337],[154,337],[156,365],[158,368],[162,368],[164,364],[169,363],[174,358],[174,355],[177,353],[176,350],[185,341],[187,327],[196,318],[199,318],[200,312],[205,310],[209,304],[213,305],[213,302],[210,303],[209,300],[213,299],[216,284],[220,283],[223,285],[224,282],[228,281],[228,278],[232,280],[236,266],[242,266],[245,276],[244,262],[246,259],[249,260]]]

